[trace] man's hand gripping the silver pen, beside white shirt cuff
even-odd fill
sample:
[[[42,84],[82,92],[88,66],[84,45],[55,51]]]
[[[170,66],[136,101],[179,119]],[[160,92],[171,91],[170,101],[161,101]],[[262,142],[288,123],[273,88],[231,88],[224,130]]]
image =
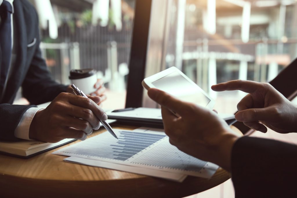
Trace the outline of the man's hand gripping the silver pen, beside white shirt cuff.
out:
[[[38,111],[30,125],[30,139],[59,142],[65,138],[85,140],[93,129],[99,129],[99,119],[107,120],[106,113],[97,105],[99,96],[59,94],[47,108]]]

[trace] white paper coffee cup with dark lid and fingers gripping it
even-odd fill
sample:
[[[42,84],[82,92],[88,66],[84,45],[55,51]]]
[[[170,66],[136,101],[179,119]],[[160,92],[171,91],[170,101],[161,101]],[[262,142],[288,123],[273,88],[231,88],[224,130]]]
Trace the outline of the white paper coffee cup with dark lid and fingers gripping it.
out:
[[[85,94],[101,97],[101,102],[106,100],[105,87],[101,79],[97,79],[95,69],[72,69],[70,70],[69,79],[71,83],[77,86]],[[71,89],[72,91],[72,89]]]

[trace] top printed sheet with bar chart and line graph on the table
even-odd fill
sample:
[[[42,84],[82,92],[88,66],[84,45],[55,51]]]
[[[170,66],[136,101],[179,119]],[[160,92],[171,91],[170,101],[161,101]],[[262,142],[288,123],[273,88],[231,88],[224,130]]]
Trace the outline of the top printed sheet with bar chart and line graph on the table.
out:
[[[123,171],[127,171],[124,167],[131,167],[128,172],[133,172],[132,167],[141,168],[147,170],[147,172],[143,172],[144,175],[149,175],[148,172],[155,170],[164,174],[173,173],[210,178],[218,168],[216,164],[202,161],[179,151],[169,143],[168,136],[162,131],[116,129],[115,132],[119,140],[104,132],[60,149],[53,154],[121,164]],[[86,161],[81,160],[78,163],[87,164]],[[113,169],[121,170],[121,166]],[[158,176],[158,174],[151,175]],[[159,176],[162,177],[160,174]]]

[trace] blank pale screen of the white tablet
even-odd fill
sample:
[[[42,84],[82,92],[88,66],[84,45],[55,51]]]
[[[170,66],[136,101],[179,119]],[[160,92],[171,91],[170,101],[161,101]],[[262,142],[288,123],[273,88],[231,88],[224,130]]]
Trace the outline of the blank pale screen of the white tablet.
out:
[[[178,72],[162,77],[152,83],[156,88],[165,91],[180,100],[193,102],[206,107],[210,99],[204,95],[197,85],[190,83]]]

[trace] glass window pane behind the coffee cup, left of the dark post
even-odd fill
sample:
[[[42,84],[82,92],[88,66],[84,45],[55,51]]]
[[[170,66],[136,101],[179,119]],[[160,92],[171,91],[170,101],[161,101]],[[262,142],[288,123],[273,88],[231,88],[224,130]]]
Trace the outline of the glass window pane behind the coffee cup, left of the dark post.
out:
[[[71,69],[96,69],[107,88],[103,108],[124,108],[135,0],[30,1],[53,78],[69,84]]]

